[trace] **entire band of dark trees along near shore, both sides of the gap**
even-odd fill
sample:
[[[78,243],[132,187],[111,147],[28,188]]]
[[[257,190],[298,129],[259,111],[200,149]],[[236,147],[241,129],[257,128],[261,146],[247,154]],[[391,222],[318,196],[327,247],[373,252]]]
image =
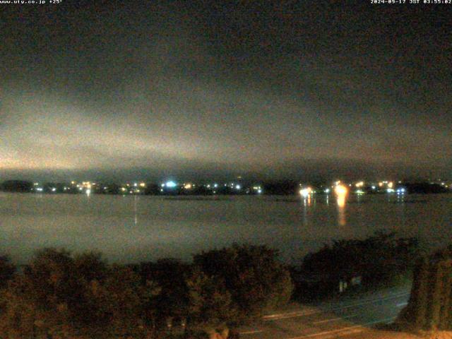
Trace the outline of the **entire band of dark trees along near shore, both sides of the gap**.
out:
[[[191,263],[126,266],[42,249],[16,270],[3,256],[0,338],[234,338],[234,328],[291,297],[388,283],[412,268],[417,251],[415,239],[377,233],[326,245],[292,270],[277,251],[251,245],[202,252]]]

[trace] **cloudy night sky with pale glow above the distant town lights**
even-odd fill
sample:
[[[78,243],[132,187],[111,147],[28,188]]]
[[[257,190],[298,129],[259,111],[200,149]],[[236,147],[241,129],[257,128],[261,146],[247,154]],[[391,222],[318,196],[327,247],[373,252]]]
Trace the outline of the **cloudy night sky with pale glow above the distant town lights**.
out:
[[[452,6],[346,2],[0,4],[0,179],[451,177]]]

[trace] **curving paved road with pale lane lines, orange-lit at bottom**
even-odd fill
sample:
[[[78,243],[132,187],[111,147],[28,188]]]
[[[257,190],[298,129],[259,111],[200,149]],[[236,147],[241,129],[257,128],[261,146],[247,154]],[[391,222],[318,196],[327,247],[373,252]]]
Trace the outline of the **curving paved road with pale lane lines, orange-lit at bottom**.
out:
[[[390,323],[408,302],[409,287],[381,290],[315,305],[292,305],[242,328],[244,339],[327,339],[365,333],[376,323]],[[360,338],[359,335],[357,338]],[[366,338],[365,336],[362,338]]]

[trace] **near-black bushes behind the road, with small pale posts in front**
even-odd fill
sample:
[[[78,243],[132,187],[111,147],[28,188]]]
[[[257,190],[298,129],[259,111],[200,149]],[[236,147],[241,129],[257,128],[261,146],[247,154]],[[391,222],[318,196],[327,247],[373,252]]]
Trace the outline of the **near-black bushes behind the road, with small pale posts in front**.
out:
[[[367,239],[336,240],[304,257],[292,270],[295,297],[312,301],[349,290],[394,285],[410,280],[420,255],[416,238],[376,232]]]

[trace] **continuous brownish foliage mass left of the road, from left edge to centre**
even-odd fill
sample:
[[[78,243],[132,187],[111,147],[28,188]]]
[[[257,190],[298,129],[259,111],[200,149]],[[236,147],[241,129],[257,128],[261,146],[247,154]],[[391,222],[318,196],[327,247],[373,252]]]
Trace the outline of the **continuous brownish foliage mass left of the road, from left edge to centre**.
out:
[[[286,302],[290,275],[266,246],[109,265],[100,254],[38,251],[22,272],[0,261],[0,338],[157,338],[169,323],[227,328]],[[180,326],[179,326],[180,327]]]

